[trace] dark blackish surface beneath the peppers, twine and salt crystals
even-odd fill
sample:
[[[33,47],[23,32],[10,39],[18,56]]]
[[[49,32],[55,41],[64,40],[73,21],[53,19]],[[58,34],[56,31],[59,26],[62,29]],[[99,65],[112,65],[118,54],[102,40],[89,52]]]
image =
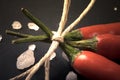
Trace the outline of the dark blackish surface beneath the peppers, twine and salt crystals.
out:
[[[73,22],[87,6],[90,0],[72,0],[67,25]],[[5,34],[6,29],[12,30],[11,24],[18,20],[23,28],[20,31],[29,34],[41,34],[41,30],[35,32],[27,28],[30,22],[20,9],[27,8],[32,14],[43,21],[51,30],[57,30],[62,12],[63,0],[0,0],[0,34],[3,36],[0,42],[0,80],[22,73],[16,69],[17,57],[28,48],[29,44],[11,44],[15,37]],[[117,7],[117,11],[114,8]],[[120,21],[120,0],[96,0],[94,7],[75,27],[87,25],[111,23]],[[37,45],[35,50],[36,61],[38,61],[49,48],[50,44],[34,42]],[[66,74],[71,70],[69,63],[61,56],[61,50],[57,49],[57,57],[51,61],[50,80],[65,80]],[[44,68],[42,67],[33,80],[44,80]],[[81,79],[82,80],[82,79]]]

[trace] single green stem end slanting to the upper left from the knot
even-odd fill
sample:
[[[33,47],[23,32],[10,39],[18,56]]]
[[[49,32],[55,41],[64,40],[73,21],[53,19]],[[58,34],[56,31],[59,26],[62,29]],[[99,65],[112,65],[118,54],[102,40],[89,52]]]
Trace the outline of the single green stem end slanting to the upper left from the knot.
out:
[[[26,15],[31,21],[33,21],[35,24],[37,24],[45,33],[48,37],[52,37],[52,32],[51,30],[43,24],[38,18],[34,17],[27,9],[22,8],[21,11],[23,12],[24,15]]]

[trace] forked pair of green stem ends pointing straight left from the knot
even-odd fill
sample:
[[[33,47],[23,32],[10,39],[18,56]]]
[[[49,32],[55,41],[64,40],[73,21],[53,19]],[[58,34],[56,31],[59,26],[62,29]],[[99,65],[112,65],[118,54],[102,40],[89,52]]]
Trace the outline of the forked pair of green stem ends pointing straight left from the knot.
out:
[[[50,42],[51,40],[48,38],[47,35],[38,35],[38,36],[33,36],[29,34],[23,34],[11,30],[6,30],[7,34],[22,37],[19,39],[12,40],[12,43],[24,43],[24,42],[35,42],[35,41],[43,41],[43,42]]]

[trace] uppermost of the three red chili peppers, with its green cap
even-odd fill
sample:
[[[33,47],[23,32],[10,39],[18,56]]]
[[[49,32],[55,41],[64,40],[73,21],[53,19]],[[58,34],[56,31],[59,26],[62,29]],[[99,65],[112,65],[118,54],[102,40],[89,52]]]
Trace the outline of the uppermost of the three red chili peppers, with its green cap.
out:
[[[69,40],[88,39],[96,35],[106,33],[120,35],[120,22],[85,26],[71,31],[65,36],[65,39]]]

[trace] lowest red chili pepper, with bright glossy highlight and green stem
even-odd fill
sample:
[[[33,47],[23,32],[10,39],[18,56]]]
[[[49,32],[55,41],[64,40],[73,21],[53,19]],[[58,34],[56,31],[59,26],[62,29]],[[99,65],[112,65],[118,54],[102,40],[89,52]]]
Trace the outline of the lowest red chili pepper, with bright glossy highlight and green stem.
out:
[[[79,51],[67,44],[62,49],[76,72],[90,80],[120,80],[120,65],[90,51]]]

